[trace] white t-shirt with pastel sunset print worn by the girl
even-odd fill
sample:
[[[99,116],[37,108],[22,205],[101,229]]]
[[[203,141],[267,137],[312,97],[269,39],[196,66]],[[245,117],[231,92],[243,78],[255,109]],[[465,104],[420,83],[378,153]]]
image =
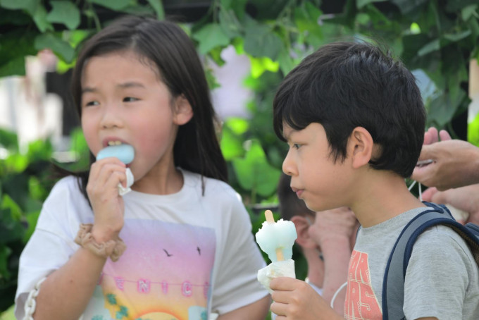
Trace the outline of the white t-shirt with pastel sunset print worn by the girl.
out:
[[[107,260],[83,319],[206,319],[251,304],[268,292],[256,280],[265,266],[249,215],[228,184],[182,171],[173,195],[123,196],[127,250]],[[80,223],[93,223],[77,179],[63,178],[44,202],[20,257],[15,316],[28,293],[78,249]],[[118,318],[119,316],[119,318]],[[123,318],[127,316],[127,318]]]

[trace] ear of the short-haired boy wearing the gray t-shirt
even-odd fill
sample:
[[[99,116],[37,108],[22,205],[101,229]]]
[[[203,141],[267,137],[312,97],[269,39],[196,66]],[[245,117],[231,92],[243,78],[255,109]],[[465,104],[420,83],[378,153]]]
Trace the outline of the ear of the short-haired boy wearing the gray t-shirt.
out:
[[[349,136],[348,154],[351,154],[353,168],[365,166],[371,160],[374,150],[373,137],[363,127],[356,127]]]

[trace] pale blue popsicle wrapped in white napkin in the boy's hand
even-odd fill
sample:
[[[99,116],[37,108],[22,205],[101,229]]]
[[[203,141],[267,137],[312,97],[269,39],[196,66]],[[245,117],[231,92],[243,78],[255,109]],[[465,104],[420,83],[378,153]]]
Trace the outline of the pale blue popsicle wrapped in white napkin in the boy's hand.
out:
[[[294,240],[298,238],[294,223],[283,219],[275,222],[273,213],[265,211],[266,221],[256,233],[256,242],[261,250],[268,254],[271,263],[258,271],[258,281],[270,293],[270,282],[277,277],[296,278],[292,259]]]

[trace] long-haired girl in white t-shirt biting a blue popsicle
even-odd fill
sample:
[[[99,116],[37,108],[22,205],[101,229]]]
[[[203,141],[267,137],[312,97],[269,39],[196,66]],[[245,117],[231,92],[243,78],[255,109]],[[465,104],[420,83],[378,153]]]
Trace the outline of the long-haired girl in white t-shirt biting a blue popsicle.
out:
[[[264,261],[225,183],[206,78],[185,32],[139,17],[109,25],[82,49],[73,97],[92,159],[130,144],[135,183],[118,195],[127,166],[106,157],[56,184],[20,257],[17,319],[264,319]]]

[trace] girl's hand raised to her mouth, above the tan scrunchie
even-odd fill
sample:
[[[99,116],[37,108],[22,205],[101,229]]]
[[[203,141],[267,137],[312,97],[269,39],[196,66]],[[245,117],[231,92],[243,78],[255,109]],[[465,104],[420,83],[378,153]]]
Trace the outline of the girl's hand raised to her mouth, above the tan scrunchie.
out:
[[[125,171],[125,164],[113,157],[90,168],[87,194],[94,212],[92,235],[97,242],[116,239],[123,228],[125,205],[118,195],[118,183],[126,185]]]

